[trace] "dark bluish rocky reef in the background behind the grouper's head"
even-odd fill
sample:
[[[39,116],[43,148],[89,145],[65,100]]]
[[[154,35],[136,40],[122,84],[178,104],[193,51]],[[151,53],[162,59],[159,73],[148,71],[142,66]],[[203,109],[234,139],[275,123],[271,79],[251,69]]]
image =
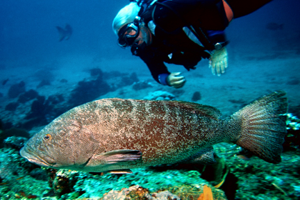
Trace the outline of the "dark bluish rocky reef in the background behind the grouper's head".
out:
[[[64,88],[68,83],[66,79],[61,79],[58,83],[60,85],[50,87],[44,80],[53,82],[54,78],[44,77],[36,89],[30,90],[26,90],[24,81],[11,85],[7,96],[2,97],[6,100],[6,104],[3,110],[0,110],[5,128],[25,128],[29,131],[31,128],[49,124],[71,108],[93,101],[101,95],[124,88],[126,85],[138,83],[134,88],[145,87],[135,73],[103,72],[99,67],[89,71],[89,77],[78,81],[72,85],[72,88],[64,89],[67,92],[62,93],[51,91],[49,94],[44,94],[43,90],[53,90],[51,87]]]

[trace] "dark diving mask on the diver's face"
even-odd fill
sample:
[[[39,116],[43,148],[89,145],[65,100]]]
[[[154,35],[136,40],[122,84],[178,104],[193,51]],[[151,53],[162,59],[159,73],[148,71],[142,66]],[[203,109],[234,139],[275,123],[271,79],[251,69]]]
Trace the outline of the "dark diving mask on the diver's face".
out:
[[[134,22],[126,24],[123,26],[119,33],[119,39],[117,40],[117,44],[120,47],[125,48],[129,47],[133,44],[136,38],[140,33],[140,17],[135,17]]]

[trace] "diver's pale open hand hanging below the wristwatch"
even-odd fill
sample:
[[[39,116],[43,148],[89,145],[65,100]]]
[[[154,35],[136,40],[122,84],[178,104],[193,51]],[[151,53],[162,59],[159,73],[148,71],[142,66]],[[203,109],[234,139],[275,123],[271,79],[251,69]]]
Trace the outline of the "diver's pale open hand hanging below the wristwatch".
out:
[[[221,76],[221,74],[225,73],[225,69],[228,67],[227,60],[226,47],[213,51],[209,60],[209,67],[212,69],[213,75],[217,74],[217,76]]]

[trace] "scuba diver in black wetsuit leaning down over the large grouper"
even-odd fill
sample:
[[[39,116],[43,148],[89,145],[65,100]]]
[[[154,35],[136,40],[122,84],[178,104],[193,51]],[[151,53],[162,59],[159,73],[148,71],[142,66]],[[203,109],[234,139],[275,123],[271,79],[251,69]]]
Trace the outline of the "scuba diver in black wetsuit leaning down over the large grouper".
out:
[[[113,31],[120,47],[131,47],[162,85],[182,88],[185,77],[169,72],[165,63],[195,69],[209,58],[212,73],[228,66],[225,28],[272,0],[138,0],[119,10]]]

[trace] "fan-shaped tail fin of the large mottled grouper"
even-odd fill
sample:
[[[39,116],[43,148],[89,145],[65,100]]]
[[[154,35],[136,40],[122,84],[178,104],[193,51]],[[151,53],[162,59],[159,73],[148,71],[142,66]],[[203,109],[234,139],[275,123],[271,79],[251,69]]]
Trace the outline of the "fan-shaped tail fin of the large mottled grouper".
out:
[[[231,116],[240,122],[236,144],[269,163],[280,163],[286,131],[288,99],[284,91],[260,97]]]

